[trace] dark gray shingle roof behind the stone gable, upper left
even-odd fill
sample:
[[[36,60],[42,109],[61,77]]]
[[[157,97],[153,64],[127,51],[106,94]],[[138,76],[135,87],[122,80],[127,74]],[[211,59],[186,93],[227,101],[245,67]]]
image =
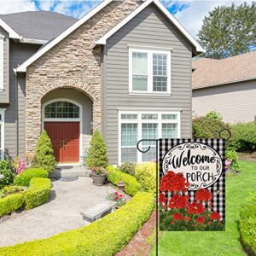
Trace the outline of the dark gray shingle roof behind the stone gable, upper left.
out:
[[[77,21],[73,17],[50,11],[28,11],[0,15],[16,33],[23,38],[50,40]]]

